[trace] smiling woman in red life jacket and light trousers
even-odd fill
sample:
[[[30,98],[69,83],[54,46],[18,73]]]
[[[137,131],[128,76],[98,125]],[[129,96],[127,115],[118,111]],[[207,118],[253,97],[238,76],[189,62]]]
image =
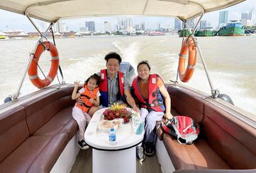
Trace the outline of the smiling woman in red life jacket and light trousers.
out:
[[[145,154],[155,153],[155,124],[172,118],[171,99],[160,76],[150,74],[148,61],[141,61],[137,66],[138,76],[133,80],[133,93],[138,100],[141,119],[145,123]],[[137,147],[137,158],[143,161],[141,147]]]

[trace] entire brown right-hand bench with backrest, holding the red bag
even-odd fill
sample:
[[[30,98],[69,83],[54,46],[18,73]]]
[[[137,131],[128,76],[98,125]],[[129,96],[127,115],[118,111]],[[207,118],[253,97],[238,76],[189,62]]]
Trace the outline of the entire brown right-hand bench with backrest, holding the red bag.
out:
[[[238,112],[187,88],[181,90],[169,85],[167,90],[172,108],[179,115],[195,119],[201,126],[201,135],[192,145],[182,145],[169,134],[162,134],[162,141],[176,170],[256,171],[256,129],[233,116],[239,117]],[[160,136],[162,129],[157,129],[157,133]]]

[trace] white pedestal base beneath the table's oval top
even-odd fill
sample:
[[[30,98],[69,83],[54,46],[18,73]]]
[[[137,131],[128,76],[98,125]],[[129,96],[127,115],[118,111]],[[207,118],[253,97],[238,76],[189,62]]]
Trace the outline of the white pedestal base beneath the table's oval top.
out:
[[[92,150],[93,173],[135,173],[136,147],[119,151]]]

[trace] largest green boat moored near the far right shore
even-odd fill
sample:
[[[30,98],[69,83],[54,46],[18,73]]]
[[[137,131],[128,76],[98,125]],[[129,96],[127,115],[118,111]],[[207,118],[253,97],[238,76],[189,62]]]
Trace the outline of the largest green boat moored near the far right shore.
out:
[[[223,26],[218,31],[219,36],[244,36],[245,29],[243,28],[242,23],[237,20],[230,20],[226,26]]]

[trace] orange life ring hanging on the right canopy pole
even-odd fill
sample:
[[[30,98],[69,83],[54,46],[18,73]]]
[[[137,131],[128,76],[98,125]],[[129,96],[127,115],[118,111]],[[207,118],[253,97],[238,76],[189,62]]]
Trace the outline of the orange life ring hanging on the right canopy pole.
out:
[[[186,67],[186,56],[189,52],[189,60]],[[182,43],[182,49],[179,53],[179,78],[186,83],[192,77],[196,66],[196,44],[194,39],[189,37]]]

